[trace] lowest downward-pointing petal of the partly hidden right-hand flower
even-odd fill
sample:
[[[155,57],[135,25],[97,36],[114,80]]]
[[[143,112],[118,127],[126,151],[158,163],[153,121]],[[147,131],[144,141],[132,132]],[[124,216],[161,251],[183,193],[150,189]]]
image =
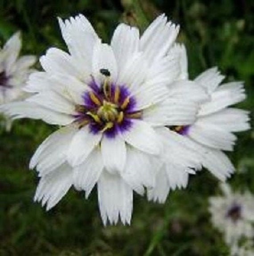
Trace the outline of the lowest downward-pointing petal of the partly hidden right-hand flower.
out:
[[[152,189],[147,189],[147,197],[150,201],[158,201],[159,203],[164,203],[167,199],[169,193],[169,184],[167,174],[164,168],[156,175],[156,186]]]

